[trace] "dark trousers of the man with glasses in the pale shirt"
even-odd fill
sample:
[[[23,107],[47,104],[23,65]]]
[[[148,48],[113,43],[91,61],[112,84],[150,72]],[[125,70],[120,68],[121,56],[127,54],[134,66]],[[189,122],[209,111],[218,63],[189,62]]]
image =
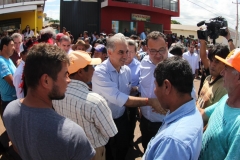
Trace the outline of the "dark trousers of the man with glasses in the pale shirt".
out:
[[[149,141],[157,134],[161,125],[162,122],[151,122],[144,116],[141,117],[140,130],[142,133],[142,146],[144,151],[146,151]]]

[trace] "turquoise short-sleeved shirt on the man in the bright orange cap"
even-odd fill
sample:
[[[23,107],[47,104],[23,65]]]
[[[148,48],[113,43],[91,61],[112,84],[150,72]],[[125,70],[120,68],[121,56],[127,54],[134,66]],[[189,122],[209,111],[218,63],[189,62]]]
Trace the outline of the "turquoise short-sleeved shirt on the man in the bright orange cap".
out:
[[[240,109],[227,104],[228,95],[205,109],[210,117],[203,134],[200,160],[238,160],[240,158]]]

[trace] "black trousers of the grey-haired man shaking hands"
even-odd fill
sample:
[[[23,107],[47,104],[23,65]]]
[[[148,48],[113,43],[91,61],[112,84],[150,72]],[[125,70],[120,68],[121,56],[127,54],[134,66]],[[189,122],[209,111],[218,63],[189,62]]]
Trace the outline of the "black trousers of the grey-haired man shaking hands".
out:
[[[127,112],[114,119],[118,133],[106,144],[106,160],[125,160],[129,149],[129,122]]]

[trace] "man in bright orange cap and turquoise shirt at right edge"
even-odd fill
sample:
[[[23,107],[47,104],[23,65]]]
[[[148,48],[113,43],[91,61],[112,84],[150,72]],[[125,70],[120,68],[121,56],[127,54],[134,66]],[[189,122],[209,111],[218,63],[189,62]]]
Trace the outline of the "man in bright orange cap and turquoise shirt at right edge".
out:
[[[229,53],[226,59],[215,56],[225,63],[222,70],[223,86],[228,94],[219,102],[200,109],[203,119],[209,119],[203,134],[200,160],[239,159],[240,157],[240,49]]]

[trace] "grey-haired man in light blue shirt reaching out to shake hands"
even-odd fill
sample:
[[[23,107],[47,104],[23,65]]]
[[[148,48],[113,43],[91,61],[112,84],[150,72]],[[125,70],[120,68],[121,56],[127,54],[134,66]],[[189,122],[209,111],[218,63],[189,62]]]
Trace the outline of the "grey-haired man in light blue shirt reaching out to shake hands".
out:
[[[131,70],[124,65],[128,58],[128,46],[122,34],[108,39],[109,58],[95,67],[92,77],[93,91],[103,96],[112,111],[118,133],[106,145],[107,160],[123,160],[129,146],[129,123],[126,107],[150,105],[160,110],[157,99],[129,96],[131,90]],[[160,111],[159,111],[160,112]]]

